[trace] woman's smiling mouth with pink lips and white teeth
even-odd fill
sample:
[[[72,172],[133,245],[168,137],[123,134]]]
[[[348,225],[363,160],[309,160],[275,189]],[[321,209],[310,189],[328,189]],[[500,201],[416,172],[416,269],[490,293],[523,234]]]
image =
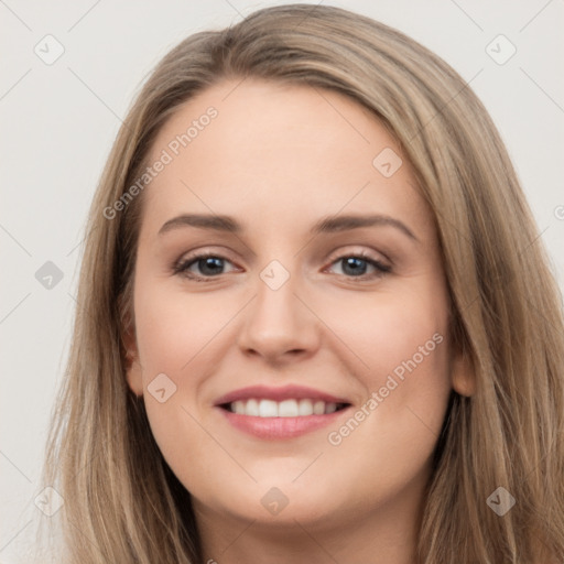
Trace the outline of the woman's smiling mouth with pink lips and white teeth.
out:
[[[335,424],[350,406],[343,398],[295,386],[246,388],[215,404],[230,426],[269,441],[294,438]]]

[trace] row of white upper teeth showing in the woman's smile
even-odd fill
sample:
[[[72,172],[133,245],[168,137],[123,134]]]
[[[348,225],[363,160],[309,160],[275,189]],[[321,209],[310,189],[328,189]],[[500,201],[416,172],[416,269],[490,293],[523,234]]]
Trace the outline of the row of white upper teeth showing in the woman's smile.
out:
[[[322,400],[257,400],[234,401],[230,411],[238,415],[254,417],[305,417],[307,415],[324,415],[337,411],[336,403],[325,403]]]

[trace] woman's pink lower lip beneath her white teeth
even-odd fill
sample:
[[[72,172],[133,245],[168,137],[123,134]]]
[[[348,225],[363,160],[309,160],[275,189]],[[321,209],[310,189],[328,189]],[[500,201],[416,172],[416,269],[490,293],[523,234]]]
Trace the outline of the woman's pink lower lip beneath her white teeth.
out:
[[[293,438],[305,435],[330,423],[335,423],[335,420],[348,410],[348,408],[345,408],[326,415],[258,417],[253,415],[239,415],[223,408],[217,409],[224,413],[224,416],[234,427],[259,438],[268,440]]]

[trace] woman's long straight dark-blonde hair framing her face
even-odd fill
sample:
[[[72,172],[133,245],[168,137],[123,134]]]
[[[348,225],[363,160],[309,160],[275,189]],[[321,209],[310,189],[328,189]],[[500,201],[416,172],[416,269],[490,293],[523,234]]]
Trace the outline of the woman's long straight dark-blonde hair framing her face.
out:
[[[131,107],[91,205],[45,485],[64,498],[65,562],[196,563],[189,494],[129,390],[143,195],[105,217],[142,174],[178,108],[220,79],[259,77],[343,93],[411,161],[434,214],[455,346],[474,367],[452,393],[429,484],[421,564],[564,561],[564,323],[560,292],[516,172],[484,106],[441,58],[369,18],[280,6],[196,33],[156,66]],[[220,119],[220,118],[219,118]],[[516,505],[488,507],[503,487]],[[552,562],[552,561],[550,561]]]

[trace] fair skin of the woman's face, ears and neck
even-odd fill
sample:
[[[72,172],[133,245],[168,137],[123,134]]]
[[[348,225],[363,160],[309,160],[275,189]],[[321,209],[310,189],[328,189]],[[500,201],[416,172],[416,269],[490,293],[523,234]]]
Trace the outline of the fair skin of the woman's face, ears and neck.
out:
[[[451,390],[474,392],[448,340],[432,213],[404,156],[388,178],[372,165],[382,149],[401,151],[357,102],[305,86],[238,83],[183,105],[153,144],[150,162],[209,106],[218,110],[142,194],[129,386],[144,395],[154,437],[192,494],[204,562],[412,563]],[[367,212],[402,221],[417,241],[389,225],[308,234],[323,217]],[[243,230],[159,235],[186,213],[229,215]],[[205,281],[174,273],[175,261],[207,250],[226,259],[212,271],[219,274],[205,262],[191,265]],[[378,275],[362,261],[347,269],[343,258],[360,251],[392,270]],[[272,260],[290,274],[275,291],[260,278]],[[330,444],[328,433],[435,334],[442,343]],[[159,373],[176,386],[163,403],[148,391]],[[256,383],[313,387],[354,410],[296,438],[257,438],[213,406]],[[273,487],[288,499],[278,514],[261,503]]]

